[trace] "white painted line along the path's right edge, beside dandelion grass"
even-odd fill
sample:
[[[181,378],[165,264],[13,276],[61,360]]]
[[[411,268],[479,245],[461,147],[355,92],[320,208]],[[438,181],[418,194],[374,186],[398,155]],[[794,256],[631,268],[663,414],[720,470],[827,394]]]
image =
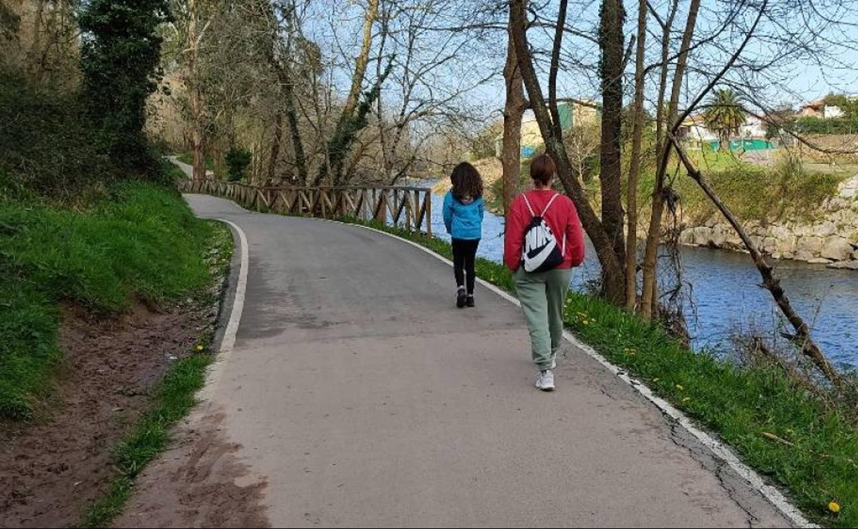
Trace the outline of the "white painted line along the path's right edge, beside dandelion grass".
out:
[[[414,243],[414,241],[409,241],[406,238],[402,238],[387,231],[378,230],[370,226],[360,224],[350,225],[355,225],[361,228],[366,228],[367,230],[383,233],[384,235],[387,235],[389,237],[394,237],[402,241],[403,243],[411,244],[412,246],[414,246],[414,248],[421,249],[427,254],[433,255],[438,260],[444,261],[450,266],[452,266],[453,264],[453,261],[450,261],[450,259],[444,257],[444,255],[438,255],[431,249],[428,249],[425,246],[421,246],[418,243]],[[521,302],[519,302],[518,299],[512,296],[509,292],[505,292],[504,290],[498,288],[498,286],[494,286],[486,280],[481,280],[480,278],[477,278],[477,281],[480,282],[480,285],[485,286],[492,292],[498,294],[498,296],[500,296],[501,298],[506,299],[512,304],[516,304],[518,307],[522,306]],[[724,443],[718,441],[715,437],[710,436],[703,430],[700,430],[697,426],[694,425],[692,420],[686,416],[685,413],[680,412],[678,409],[668,403],[667,400],[664,400],[655,393],[653,393],[652,389],[647,387],[644,382],[640,382],[639,380],[628,376],[625,373],[625,370],[623,370],[617,365],[612,364],[610,361],[607,360],[607,358],[601,356],[601,354],[596,352],[595,349],[593,349],[592,347],[582,343],[575,337],[574,334],[571,334],[569,331],[564,331],[563,337],[569,342],[571,342],[573,346],[576,346],[578,349],[581,349],[589,357],[594,358],[596,362],[605,366],[607,370],[618,376],[621,381],[631,386],[631,388],[637,391],[637,393],[643,395],[644,399],[649,400],[651,403],[656,405],[656,407],[661,410],[662,413],[664,413],[670,418],[673,418],[692,436],[696,437],[698,441],[701,442],[706,448],[709,448],[712,453],[716,455],[717,458],[723,460],[725,463],[728,464],[728,466],[730,466],[730,468],[732,468],[737,474],[739,474],[741,478],[744,478],[754,490],[757,490],[762,496],[764,496],[764,498],[768,500],[778,511],[780,511],[781,514],[783,514],[790,521],[792,521],[795,526],[819,527],[807,520],[807,518],[804,517],[804,514],[801,514],[801,511],[796,508],[795,505],[790,503],[786,496],[782,495],[780,490],[777,490],[775,487],[772,487],[769,484],[765,484],[763,478],[760,478],[757,472],[754,472],[752,468],[742,463],[736,456],[736,454],[734,454],[733,451],[730,450],[730,448],[728,448]]]

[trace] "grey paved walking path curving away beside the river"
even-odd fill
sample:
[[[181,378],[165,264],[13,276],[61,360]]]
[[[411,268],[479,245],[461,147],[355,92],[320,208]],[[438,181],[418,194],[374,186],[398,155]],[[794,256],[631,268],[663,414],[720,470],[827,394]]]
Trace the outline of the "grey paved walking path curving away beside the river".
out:
[[[233,352],[120,526],[787,526],[568,346],[532,385],[519,309],[359,226],[189,195],[250,244]]]

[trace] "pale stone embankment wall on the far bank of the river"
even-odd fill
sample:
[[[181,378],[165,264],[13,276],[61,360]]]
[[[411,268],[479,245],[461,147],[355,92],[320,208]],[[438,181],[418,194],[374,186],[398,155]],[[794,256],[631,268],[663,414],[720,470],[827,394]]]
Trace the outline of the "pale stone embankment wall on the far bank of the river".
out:
[[[838,195],[819,205],[819,220],[745,225],[758,248],[775,259],[795,259],[858,270],[858,175],[840,184]],[[680,242],[745,251],[733,228],[716,215],[703,225],[686,226]]]

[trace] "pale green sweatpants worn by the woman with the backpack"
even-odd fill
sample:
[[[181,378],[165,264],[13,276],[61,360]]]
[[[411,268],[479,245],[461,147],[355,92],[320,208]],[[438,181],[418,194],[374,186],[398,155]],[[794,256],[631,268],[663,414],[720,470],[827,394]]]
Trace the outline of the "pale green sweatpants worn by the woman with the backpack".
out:
[[[572,270],[555,268],[531,274],[518,268],[513,277],[530,329],[534,363],[539,369],[547,370],[551,366],[552,355],[563,343],[563,304],[566,292],[569,292]]]

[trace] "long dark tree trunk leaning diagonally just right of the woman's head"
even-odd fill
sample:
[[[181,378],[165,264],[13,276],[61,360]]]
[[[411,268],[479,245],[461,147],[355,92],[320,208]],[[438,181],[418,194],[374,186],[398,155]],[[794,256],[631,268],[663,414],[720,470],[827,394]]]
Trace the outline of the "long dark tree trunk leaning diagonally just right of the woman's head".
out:
[[[617,257],[613,249],[613,241],[607,236],[607,232],[590,205],[581,183],[575,176],[569,155],[563,145],[563,138],[554,134],[551,116],[546,108],[545,98],[542,96],[542,88],[536,75],[533,57],[530,56],[527,34],[525,33],[526,25],[524,0],[511,0],[511,33],[516,45],[518,67],[521,70],[524,87],[527,88],[530,107],[534,111],[536,123],[539,124],[547,152],[557,165],[558,177],[572,201],[575,202],[581,224],[587,231],[593,246],[595,246],[596,255],[598,255],[601,264],[605,297],[610,303],[625,305],[625,269],[623,263]]]

